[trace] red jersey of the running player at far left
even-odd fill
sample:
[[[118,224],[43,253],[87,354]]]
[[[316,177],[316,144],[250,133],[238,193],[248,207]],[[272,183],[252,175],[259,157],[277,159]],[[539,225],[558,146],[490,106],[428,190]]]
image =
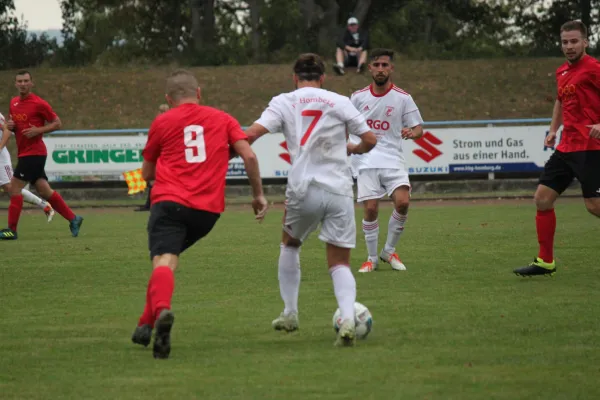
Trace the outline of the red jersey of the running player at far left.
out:
[[[54,122],[58,116],[46,100],[33,93],[22,99],[13,97],[10,101],[10,116],[15,121],[15,137],[17,138],[18,156],[45,156],[48,154],[43,136],[31,139],[23,135],[23,129],[31,126],[44,126],[46,122]]]

